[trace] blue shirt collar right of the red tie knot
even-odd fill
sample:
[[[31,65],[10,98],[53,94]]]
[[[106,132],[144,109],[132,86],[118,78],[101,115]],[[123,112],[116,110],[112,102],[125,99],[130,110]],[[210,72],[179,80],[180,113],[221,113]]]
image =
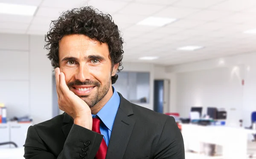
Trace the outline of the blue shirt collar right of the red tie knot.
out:
[[[102,107],[101,110],[96,114],[102,120],[102,122],[108,127],[108,130],[112,131],[114,120],[116,118],[116,112],[120,104],[119,94],[112,86],[113,95],[109,101]],[[94,116],[94,115],[93,115]]]

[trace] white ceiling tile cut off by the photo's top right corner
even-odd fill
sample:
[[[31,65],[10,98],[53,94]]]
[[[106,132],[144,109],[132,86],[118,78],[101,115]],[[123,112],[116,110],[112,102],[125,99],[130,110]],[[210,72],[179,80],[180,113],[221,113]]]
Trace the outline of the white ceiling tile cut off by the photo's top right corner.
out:
[[[242,11],[244,9],[256,6],[256,0],[227,0],[218,5],[210,7],[210,9],[222,11]]]

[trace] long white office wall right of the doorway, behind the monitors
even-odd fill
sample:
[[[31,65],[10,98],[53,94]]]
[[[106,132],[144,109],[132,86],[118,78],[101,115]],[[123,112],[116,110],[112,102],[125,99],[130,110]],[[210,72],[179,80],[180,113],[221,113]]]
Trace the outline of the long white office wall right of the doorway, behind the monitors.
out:
[[[250,114],[256,111],[255,59],[256,53],[248,53],[166,67],[177,76],[177,110],[188,116],[192,106],[224,107],[229,124],[243,119],[250,126]]]

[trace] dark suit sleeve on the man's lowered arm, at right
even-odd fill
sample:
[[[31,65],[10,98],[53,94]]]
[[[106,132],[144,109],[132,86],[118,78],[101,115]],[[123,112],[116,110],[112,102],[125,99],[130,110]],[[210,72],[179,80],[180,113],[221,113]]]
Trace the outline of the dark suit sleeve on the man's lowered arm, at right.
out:
[[[183,137],[173,117],[166,119],[154,159],[185,159]]]

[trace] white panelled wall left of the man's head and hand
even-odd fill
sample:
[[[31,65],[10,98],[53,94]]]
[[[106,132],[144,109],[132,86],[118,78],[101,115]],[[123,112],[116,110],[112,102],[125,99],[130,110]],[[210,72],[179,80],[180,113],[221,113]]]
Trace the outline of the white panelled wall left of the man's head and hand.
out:
[[[0,34],[0,102],[9,118],[30,115],[34,123],[52,117],[51,68],[44,36]]]

